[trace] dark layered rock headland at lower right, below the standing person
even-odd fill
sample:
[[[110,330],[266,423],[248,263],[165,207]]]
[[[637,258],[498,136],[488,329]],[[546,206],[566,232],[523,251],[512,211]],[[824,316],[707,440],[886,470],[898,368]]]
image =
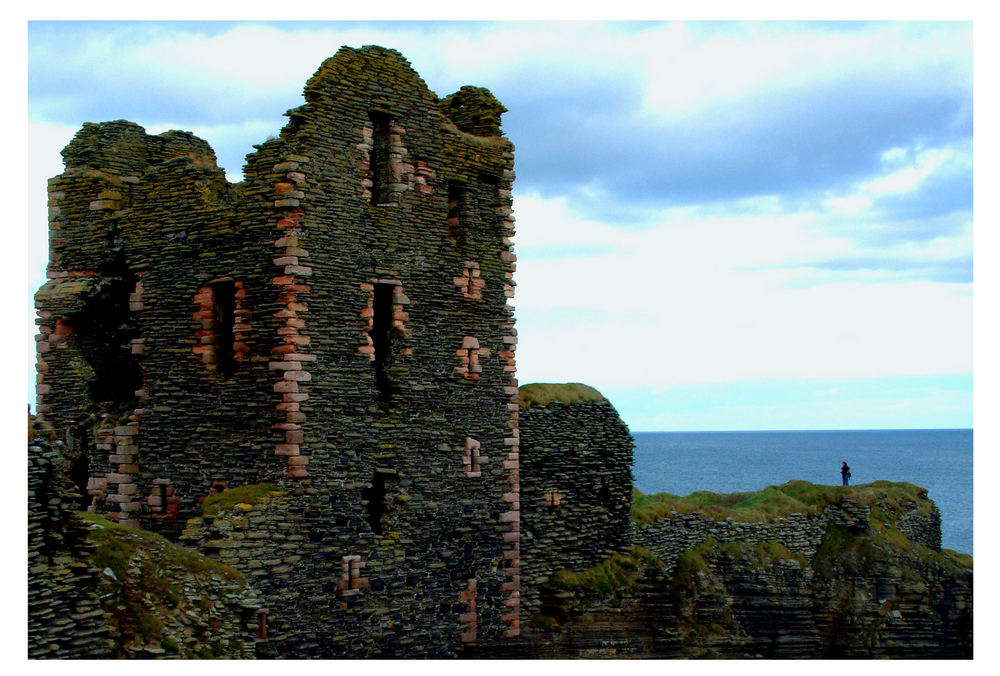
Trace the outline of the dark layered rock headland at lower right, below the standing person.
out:
[[[792,483],[790,495],[829,498]],[[770,522],[674,511],[638,528],[660,556],[635,547],[628,575],[608,574],[614,558],[553,575],[522,655],[971,658],[972,558],[940,549],[926,492],[849,491]]]

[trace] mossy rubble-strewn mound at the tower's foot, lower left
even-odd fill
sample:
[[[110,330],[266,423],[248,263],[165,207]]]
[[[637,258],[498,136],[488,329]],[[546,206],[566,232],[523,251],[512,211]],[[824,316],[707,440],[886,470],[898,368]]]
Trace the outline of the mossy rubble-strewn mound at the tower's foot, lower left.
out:
[[[118,657],[245,656],[252,637],[241,615],[252,615],[256,599],[242,573],[155,533],[81,517]]]

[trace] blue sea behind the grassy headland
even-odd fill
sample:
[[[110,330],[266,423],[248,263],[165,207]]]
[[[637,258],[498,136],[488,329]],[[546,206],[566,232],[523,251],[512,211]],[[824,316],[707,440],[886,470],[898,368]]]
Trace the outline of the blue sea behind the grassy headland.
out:
[[[941,546],[972,554],[972,430],[634,432],[643,493],[757,491],[803,479],[840,485],[880,479],[927,489],[941,510]]]

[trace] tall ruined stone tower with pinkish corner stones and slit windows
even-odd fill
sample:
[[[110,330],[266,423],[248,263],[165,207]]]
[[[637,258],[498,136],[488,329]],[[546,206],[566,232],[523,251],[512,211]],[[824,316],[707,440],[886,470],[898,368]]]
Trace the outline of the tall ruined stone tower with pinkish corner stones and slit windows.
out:
[[[49,183],[38,412],[126,524],[178,537],[212,492],[283,490],[301,559],[269,607],[279,654],[514,637],[504,109],[440,101],[379,47],[341,49],[305,99],[235,185],[190,134],[84,125]],[[340,588],[345,560],[367,588]]]

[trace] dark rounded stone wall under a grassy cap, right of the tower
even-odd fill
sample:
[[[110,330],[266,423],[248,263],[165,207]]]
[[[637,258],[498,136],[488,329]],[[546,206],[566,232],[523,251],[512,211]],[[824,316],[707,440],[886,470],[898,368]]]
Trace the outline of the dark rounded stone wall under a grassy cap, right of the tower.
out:
[[[522,602],[557,570],[596,565],[631,543],[632,450],[607,400],[553,401],[520,413]]]

